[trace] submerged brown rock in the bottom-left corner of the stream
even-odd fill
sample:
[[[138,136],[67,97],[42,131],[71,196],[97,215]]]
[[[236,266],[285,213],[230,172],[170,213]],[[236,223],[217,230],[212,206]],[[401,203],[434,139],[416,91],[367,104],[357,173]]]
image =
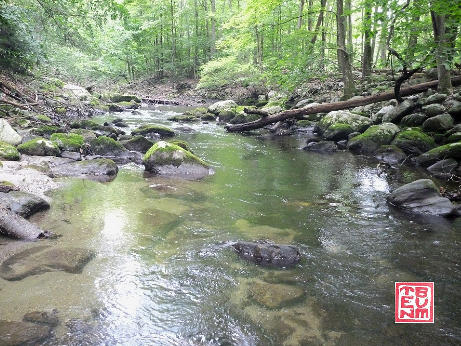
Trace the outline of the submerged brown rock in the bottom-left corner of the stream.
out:
[[[0,321],[0,345],[26,346],[41,344],[52,328],[46,324]]]

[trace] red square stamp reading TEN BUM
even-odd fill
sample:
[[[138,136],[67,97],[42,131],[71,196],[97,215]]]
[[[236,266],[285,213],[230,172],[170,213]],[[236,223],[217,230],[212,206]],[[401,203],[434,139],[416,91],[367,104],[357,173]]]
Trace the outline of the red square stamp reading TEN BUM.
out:
[[[434,322],[434,282],[395,282],[395,323]]]

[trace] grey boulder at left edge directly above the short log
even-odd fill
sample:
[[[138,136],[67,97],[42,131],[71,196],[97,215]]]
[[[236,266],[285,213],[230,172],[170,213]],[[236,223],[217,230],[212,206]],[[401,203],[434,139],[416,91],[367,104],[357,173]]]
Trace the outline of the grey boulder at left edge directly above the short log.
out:
[[[24,218],[50,208],[46,200],[26,191],[0,192],[0,200],[7,202],[13,213]]]

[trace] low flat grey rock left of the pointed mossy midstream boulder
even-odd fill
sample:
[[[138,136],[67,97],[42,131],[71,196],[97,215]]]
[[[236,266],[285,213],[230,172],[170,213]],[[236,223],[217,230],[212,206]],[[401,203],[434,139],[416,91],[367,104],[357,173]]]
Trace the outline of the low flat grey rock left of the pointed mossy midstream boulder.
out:
[[[110,159],[95,158],[69,162],[68,164],[53,167],[51,171],[55,176],[115,176],[118,173],[118,166]]]

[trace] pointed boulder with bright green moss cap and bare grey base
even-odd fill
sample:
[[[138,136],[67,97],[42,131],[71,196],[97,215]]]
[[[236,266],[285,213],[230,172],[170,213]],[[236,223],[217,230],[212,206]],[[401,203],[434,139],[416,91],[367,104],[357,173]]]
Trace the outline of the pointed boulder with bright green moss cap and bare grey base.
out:
[[[208,175],[209,166],[191,152],[161,140],[145,153],[142,163],[146,171],[157,174]]]

